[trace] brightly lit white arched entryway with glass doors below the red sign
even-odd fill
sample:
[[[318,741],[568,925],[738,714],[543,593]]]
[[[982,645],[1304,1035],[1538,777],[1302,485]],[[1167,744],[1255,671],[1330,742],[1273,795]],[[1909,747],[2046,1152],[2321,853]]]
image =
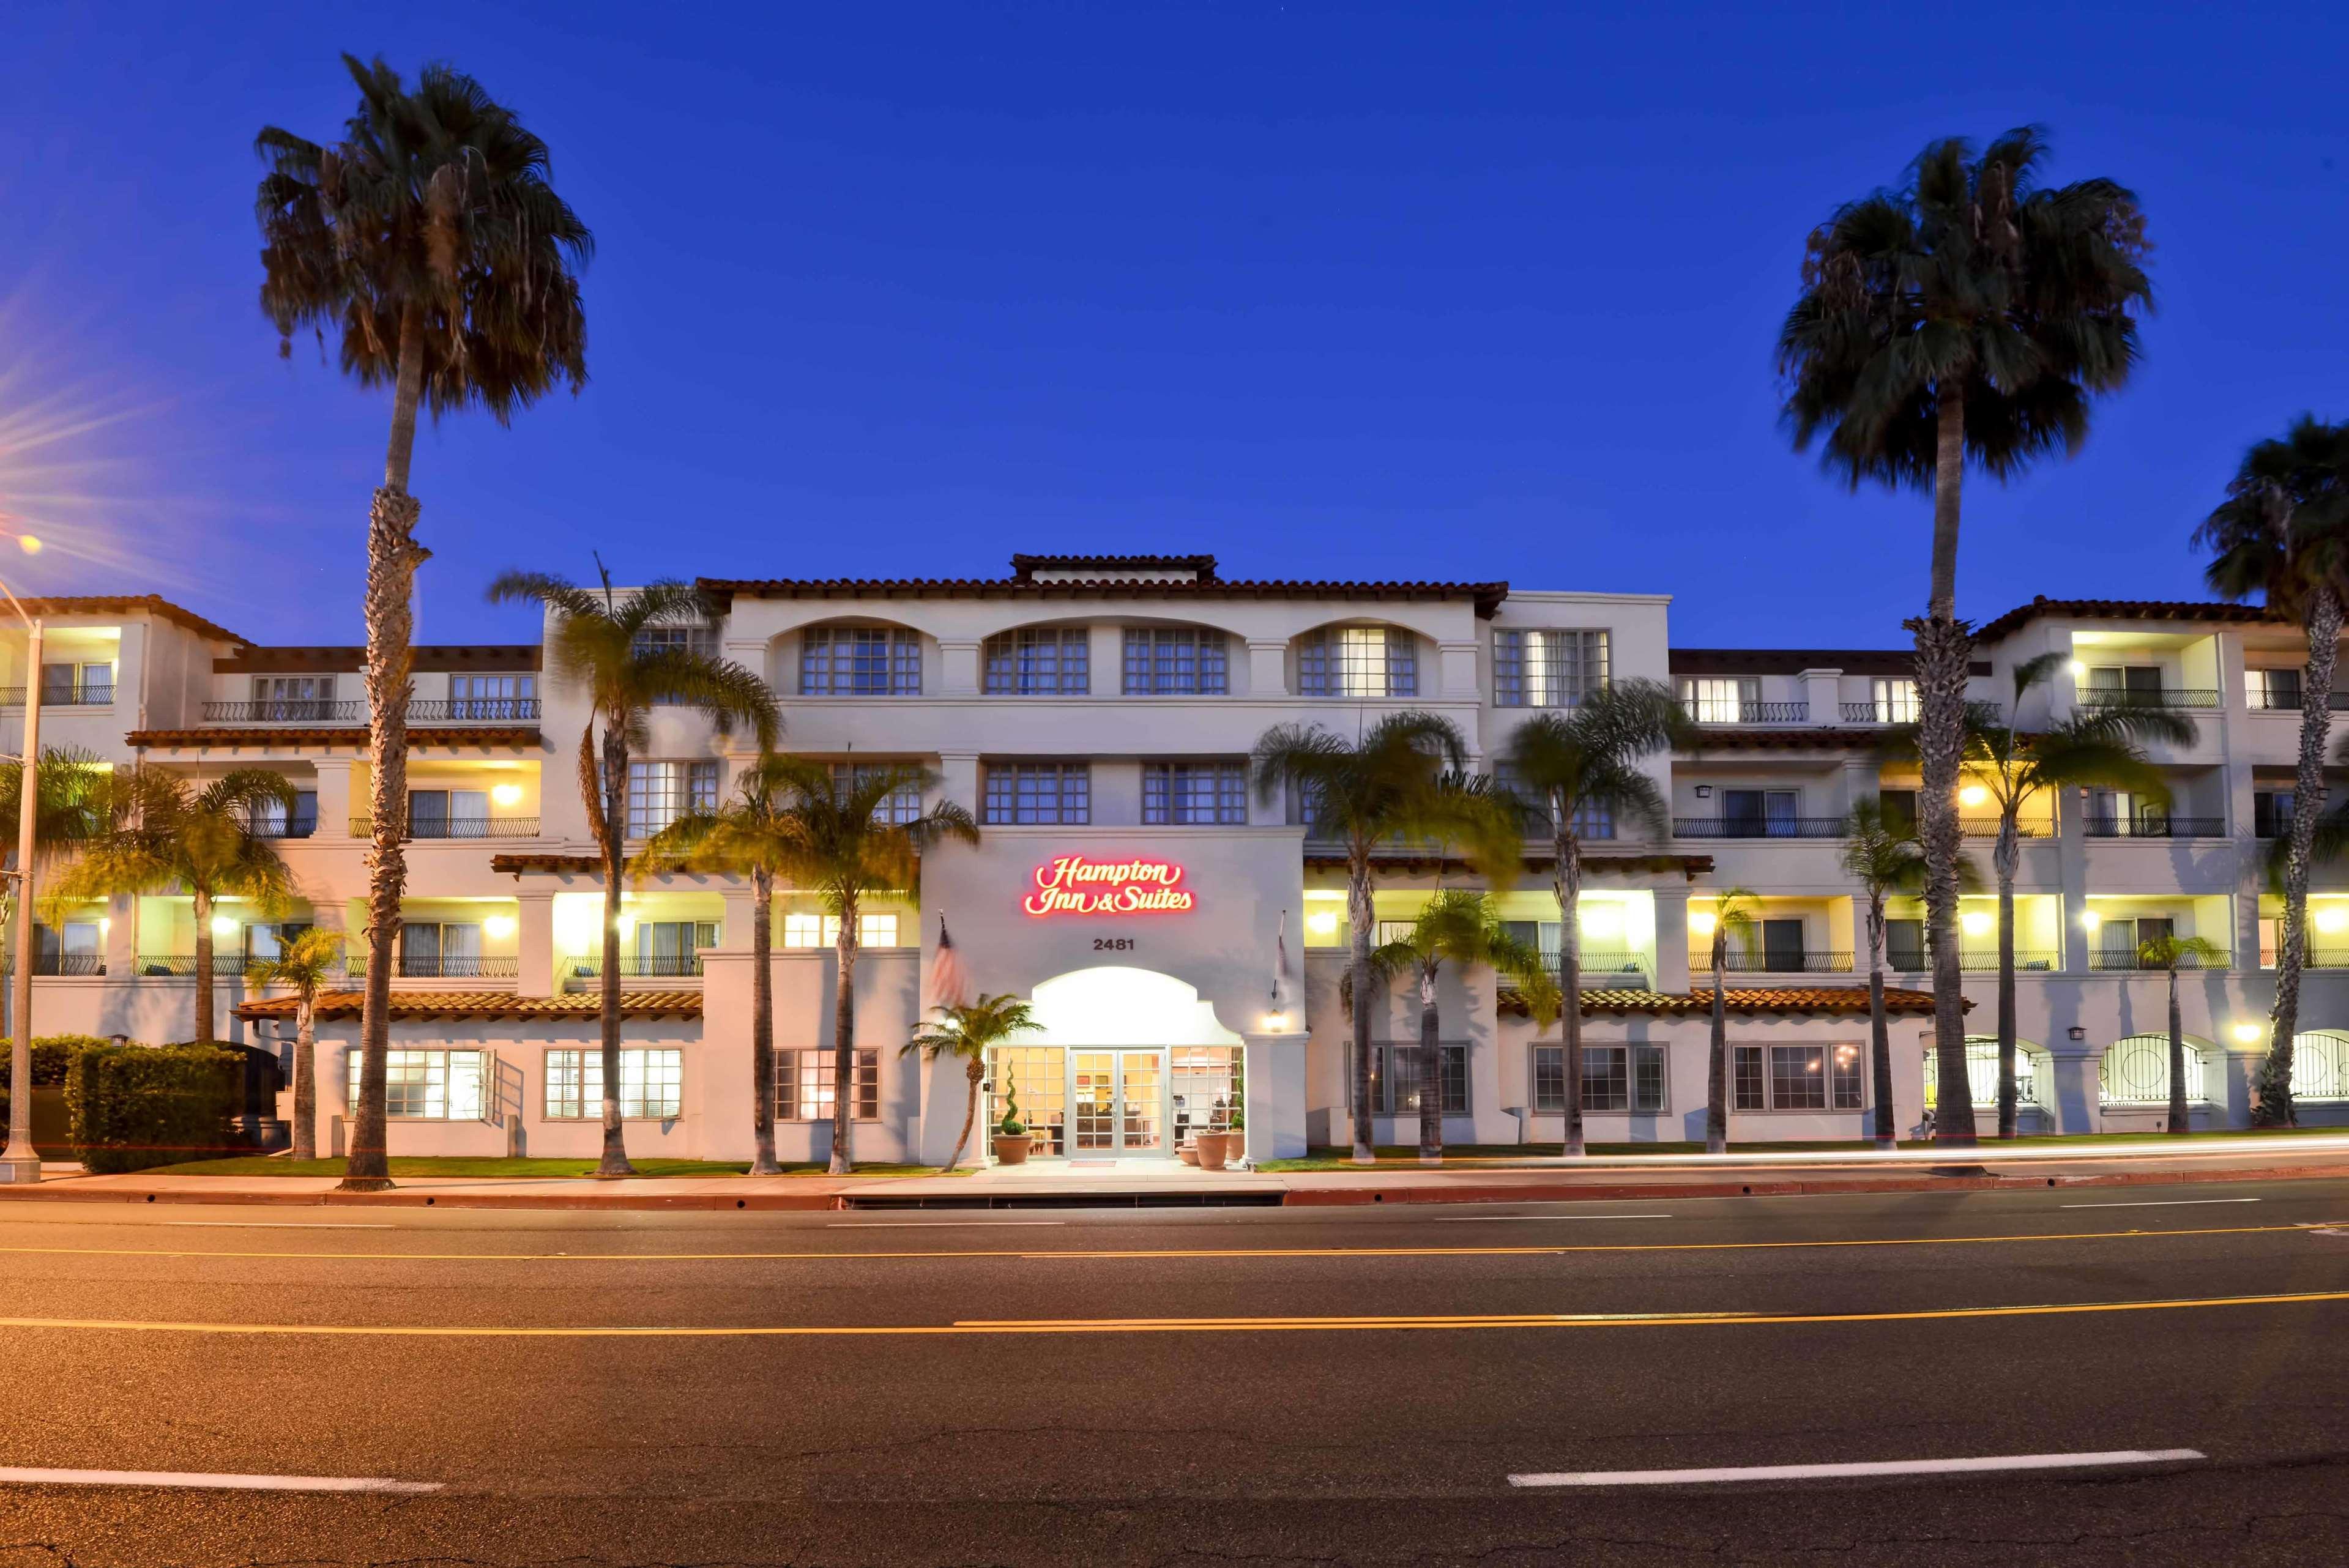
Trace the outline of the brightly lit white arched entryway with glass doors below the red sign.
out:
[[[1172,1157],[1193,1131],[1219,1131],[1243,1094],[1243,1040],[1198,986],[1156,969],[1102,965],[1041,981],[1036,1030],[996,1047],[987,1115],[1010,1101],[1038,1157]]]

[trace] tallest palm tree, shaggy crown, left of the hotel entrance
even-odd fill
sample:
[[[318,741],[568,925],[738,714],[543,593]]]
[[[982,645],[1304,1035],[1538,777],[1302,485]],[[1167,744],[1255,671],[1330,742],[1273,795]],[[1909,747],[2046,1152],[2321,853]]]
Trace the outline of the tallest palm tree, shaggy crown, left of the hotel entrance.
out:
[[[409,495],[416,411],[474,404],[505,425],[552,387],[587,380],[587,319],[573,270],[594,249],[587,225],[547,183],[547,143],[479,82],[425,66],[416,92],[381,59],[343,56],[359,103],[343,138],[319,146],[263,127],[268,164],[254,200],[261,223],[261,310],[277,352],[294,333],[336,333],[343,371],[392,387],[383,486],[366,514],[366,702],[373,793],[366,922],[399,930],[409,815],[409,695],[413,692],[416,542]],[[383,1054],[390,1049],[392,965],[366,967],[352,1190],[388,1188]]]

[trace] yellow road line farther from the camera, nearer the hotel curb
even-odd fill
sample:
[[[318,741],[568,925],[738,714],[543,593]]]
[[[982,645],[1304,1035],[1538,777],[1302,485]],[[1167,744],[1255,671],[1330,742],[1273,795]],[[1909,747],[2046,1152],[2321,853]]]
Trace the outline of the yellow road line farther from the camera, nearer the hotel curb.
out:
[[[1813,1246],[1994,1246],[2001,1242],[2149,1242],[2323,1230],[2349,1221],[2290,1225],[2194,1225],[2180,1230],[2058,1230],[2008,1237],[1858,1237],[1813,1242],[1562,1242],[1553,1246],[1165,1246],[1165,1249],[970,1249],[970,1251],[226,1251],[200,1246],[0,1246],[0,1256],[45,1258],[298,1258],[336,1263],[890,1263],[914,1258],[1555,1258],[1567,1253],[1797,1251]]]

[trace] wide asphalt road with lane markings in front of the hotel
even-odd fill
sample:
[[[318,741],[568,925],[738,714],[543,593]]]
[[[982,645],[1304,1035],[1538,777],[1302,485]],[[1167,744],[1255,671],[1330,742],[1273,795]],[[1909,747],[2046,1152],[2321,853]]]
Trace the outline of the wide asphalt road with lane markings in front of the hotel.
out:
[[[2349,1561],[2349,1183],[12,1204],[0,1352],[0,1568]]]

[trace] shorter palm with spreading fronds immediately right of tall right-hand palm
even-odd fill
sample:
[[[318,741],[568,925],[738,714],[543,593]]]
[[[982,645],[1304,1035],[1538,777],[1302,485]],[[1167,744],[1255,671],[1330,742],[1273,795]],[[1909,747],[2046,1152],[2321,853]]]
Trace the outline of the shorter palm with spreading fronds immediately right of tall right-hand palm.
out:
[[[2001,1138],[2015,1136],[2015,871],[2022,864],[2022,805],[2041,791],[2060,796],[2065,789],[2126,789],[2131,796],[2168,805],[2170,789],[2161,770],[2145,761],[2140,742],[2194,744],[2192,718],[2138,702],[2084,709],[2044,730],[2022,730],[2022,699],[2053,681],[2067,662],[2065,653],[2041,653],[2015,664],[2008,709],[2013,718],[1990,704],[1966,704],[1966,770],[1999,805],[1999,838],[1990,866],[1999,878]]]

